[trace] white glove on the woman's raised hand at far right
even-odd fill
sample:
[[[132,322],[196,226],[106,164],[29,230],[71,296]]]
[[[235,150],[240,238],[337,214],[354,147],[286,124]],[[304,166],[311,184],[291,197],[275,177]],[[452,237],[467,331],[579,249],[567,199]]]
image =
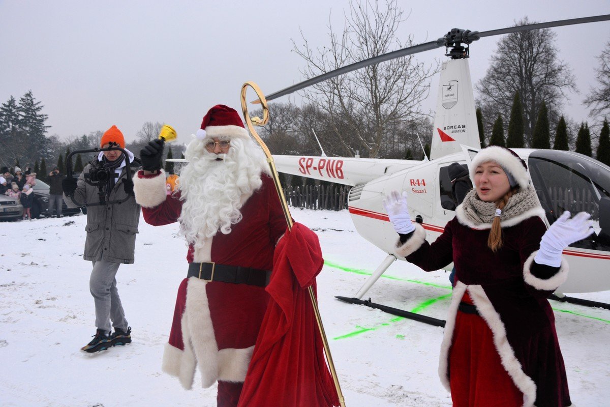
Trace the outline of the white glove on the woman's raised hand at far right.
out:
[[[561,265],[561,252],[578,240],[583,240],[594,232],[593,221],[587,212],[580,212],[570,218],[570,212],[565,211],[548,228],[540,240],[540,250],[536,253],[534,261],[538,264],[559,267]]]

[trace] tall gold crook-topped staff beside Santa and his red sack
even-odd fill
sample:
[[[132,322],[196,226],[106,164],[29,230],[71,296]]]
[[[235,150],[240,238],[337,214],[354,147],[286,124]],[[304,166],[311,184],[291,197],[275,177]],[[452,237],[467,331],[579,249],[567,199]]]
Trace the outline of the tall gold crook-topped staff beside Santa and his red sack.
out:
[[[256,96],[258,96],[260,104],[263,107],[262,120],[260,120],[260,118],[258,117],[251,118],[248,114],[248,106],[246,102],[246,90],[248,90],[248,87],[254,89],[254,92],[256,92]],[[267,106],[267,99],[265,99],[265,95],[263,95],[263,93],[260,91],[259,85],[255,84],[254,82],[246,82],[242,85],[242,110],[243,117],[245,117],[246,119],[246,124],[248,125],[250,133],[253,135],[256,142],[259,143],[260,147],[265,152],[265,156],[267,156],[267,162],[269,164],[269,168],[271,169],[271,176],[273,176],[273,183],[275,184],[275,189],[278,191],[279,200],[282,203],[282,210],[284,211],[286,223],[288,224],[288,230],[292,230],[292,216],[290,216],[288,203],[286,202],[284,191],[282,190],[282,185],[279,182],[278,170],[276,170],[275,168],[273,157],[271,156],[271,152],[267,148],[267,145],[265,145],[265,142],[260,139],[256,130],[254,130],[254,126],[264,126],[267,123],[267,120],[269,120],[269,108]],[[318,309],[318,301],[315,299],[314,289],[312,288],[312,286],[309,286],[307,288],[309,289],[309,297],[311,298],[311,304],[314,307],[315,320],[318,322],[318,329],[320,330],[322,343],[324,344],[324,351],[326,353],[328,367],[331,370],[332,381],[334,381],[335,383],[337,395],[339,396],[339,404],[341,405],[341,407],[345,407],[345,400],[343,400],[343,393],[341,392],[341,387],[339,386],[339,379],[337,378],[335,364],[332,362],[331,348],[328,346],[328,339],[326,339],[326,333],[324,332],[324,326],[322,325],[322,318],[320,317],[320,310]]]

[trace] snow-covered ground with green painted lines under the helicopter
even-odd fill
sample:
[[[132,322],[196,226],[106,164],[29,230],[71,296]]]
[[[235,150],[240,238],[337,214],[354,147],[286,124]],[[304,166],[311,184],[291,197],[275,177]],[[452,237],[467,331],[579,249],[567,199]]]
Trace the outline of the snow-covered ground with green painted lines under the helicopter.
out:
[[[442,328],[334,298],[353,297],[386,254],[357,234],[347,211],[293,209],[293,217],[320,236],[320,311],[346,405],[450,406],[437,376]],[[215,406],[214,387],[185,391],[160,370],[186,273],[176,225],[141,220],[135,264],[119,269],[134,342],[95,355],[79,350],[95,333],[85,223],[84,215],[0,223],[0,406]],[[444,319],[447,277],[396,262],[367,297]],[[608,291],[575,296],[610,303]],[[574,405],[608,406],[610,311],[551,304]]]

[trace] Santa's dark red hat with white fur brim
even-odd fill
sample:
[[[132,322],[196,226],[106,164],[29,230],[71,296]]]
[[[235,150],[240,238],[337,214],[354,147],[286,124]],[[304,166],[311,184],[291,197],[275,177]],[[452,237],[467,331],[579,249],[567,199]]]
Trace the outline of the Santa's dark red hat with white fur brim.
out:
[[[201,129],[197,131],[197,139],[203,140],[206,137],[248,139],[249,135],[235,109],[217,104],[207,111],[201,122]]]

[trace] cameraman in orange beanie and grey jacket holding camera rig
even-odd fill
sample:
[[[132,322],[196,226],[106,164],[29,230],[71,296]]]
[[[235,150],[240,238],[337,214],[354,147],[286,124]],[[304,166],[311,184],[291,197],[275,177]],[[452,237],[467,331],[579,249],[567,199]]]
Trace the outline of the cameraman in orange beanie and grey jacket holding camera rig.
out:
[[[104,133],[100,145],[102,148],[123,148],[129,165],[135,165],[134,154],[125,149],[123,133],[117,126]],[[140,206],[133,196],[134,184],[127,179],[125,158],[120,150],[102,151],[87,164],[78,181],[75,178],[63,181],[68,206],[76,207],[71,198],[79,206],[88,205],[83,258],[93,262],[89,289],[95,302],[97,327],[93,340],[82,347],[88,353],[131,342],[131,328],[125,319],[115,278],[121,263],[134,262],[135,235],[140,220]],[[88,184],[85,178],[99,180],[95,182],[99,186]]]

